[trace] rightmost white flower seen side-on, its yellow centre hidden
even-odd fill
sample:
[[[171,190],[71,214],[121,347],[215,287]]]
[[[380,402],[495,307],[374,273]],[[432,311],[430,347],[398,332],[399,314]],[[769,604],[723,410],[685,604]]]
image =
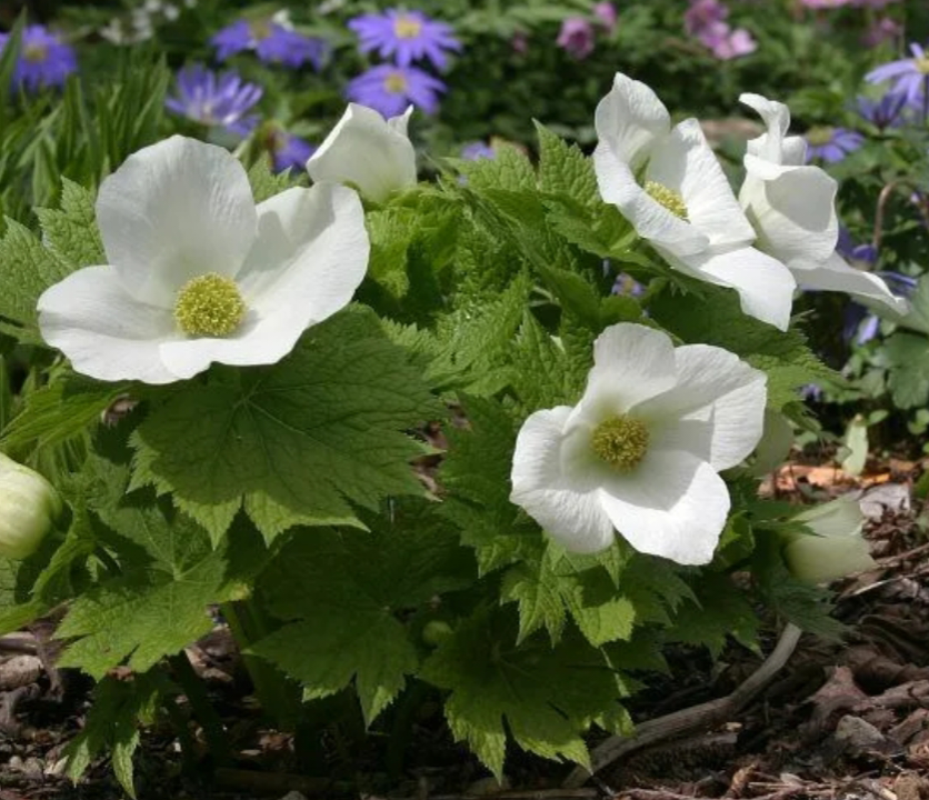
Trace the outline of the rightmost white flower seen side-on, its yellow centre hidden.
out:
[[[903,298],[895,297],[878,276],[855,269],[836,252],[838,184],[819,167],[806,163],[802,137],[787,136],[787,106],[760,94],[742,94],[739,100],[755,109],[768,128],[748,142],[746,181],[739,193],[758,233],[758,247],[783,261],[802,287],[843,291],[906,313]]]

